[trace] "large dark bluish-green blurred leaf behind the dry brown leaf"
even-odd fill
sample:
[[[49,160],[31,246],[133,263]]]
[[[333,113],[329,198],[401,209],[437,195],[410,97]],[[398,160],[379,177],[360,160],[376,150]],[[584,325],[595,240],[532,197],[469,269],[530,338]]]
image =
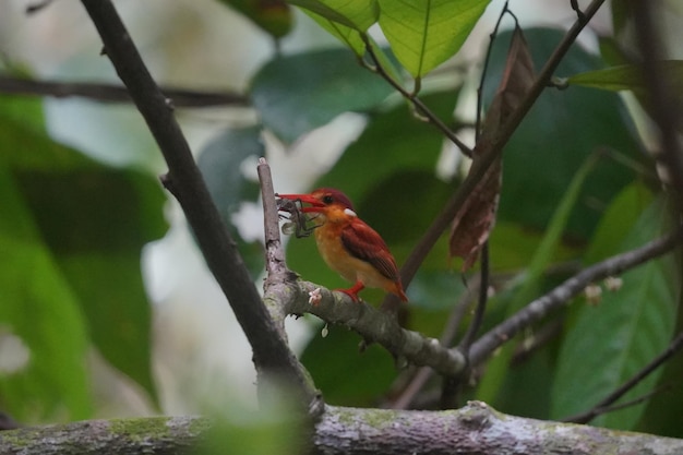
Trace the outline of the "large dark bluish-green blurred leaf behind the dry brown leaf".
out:
[[[525,31],[536,68],[541,68],[562,34],[556,31]],[[493,48],[486,99],[491,99],[503,71],[510,33],[502,34]],[[601,64],[579,47],[572,47],[556,74],[595,70]],[[566,235],[586,240],[601,211],[635,176],[624,161],[644,160],[634,130],[619,95],[572,87],[547,89],[531,108],[511,141],[503,157],[503,189],[499,219],[527,228],[544,229],[573,176],[597,151],[606,155],[583,188],[577,208],[570,217]]]

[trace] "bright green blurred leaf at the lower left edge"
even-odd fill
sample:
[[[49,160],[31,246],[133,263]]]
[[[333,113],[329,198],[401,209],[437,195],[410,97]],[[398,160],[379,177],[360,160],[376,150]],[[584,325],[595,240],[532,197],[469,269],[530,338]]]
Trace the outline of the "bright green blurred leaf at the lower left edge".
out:
[[[89,418],[86,322],[4,160],[0,211],[0,333],[16,337],[27,355],[25,366],[20,359],[9,368],[8,358],[21,351],[3,351],[2,408],[24,422]]]

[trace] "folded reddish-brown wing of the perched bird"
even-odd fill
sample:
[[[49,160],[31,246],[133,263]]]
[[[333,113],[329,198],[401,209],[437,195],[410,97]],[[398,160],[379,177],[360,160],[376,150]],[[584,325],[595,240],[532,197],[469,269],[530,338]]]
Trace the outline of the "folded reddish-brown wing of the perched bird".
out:
[[[342,230],[342,244],[361,261],[372,264],[382,275],[397,282],[398,267],[382,237],[370,226],[356,219]]]

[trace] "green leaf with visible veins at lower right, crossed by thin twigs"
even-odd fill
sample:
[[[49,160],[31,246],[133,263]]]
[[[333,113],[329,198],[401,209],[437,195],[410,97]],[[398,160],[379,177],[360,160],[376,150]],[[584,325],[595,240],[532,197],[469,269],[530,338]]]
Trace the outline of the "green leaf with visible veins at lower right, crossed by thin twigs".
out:
[[[643,246],[668,225],[666,204],[656,200],[633,226],[620,251]],[[614,252],[616,253],[616,251]],[[681,270],[672,254],[624,273],[618,291],[603,291],[598,306],[584,306],[558,359],[552,387],[552,418],[590,409],[669,344],[681,292]],[[648,375],[621,403],[650,392],[661,370]],[[598,417],[592,423],[632,429],[645,404]]]

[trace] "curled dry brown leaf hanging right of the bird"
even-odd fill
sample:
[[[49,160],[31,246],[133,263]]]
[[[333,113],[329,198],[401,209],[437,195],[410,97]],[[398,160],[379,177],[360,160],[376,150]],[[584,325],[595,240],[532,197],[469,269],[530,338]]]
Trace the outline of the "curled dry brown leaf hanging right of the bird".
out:
[[[516,28],[507,52],[503,79],[489,107],[481,135],[474,149],[474,160],[477,160],[491,146],[491,140],[526,96],[534,84],[534,79],[531,55],[522,29]],[[450,253],[451,258],[465,259],[463,272],[475,264],[481,247],[493,229],[501,184],[502,156],[499,156],[453,219],[448,239]]]

